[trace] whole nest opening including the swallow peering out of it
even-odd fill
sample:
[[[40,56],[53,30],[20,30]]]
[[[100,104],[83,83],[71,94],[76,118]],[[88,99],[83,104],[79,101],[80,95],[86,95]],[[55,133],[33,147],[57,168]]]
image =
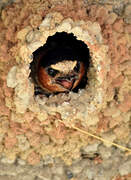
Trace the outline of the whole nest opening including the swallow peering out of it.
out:
[[[84,88],[89,67],[89,49],[73,34],[56,33],[33,53],[31,74],[35,95],[57,94]]]

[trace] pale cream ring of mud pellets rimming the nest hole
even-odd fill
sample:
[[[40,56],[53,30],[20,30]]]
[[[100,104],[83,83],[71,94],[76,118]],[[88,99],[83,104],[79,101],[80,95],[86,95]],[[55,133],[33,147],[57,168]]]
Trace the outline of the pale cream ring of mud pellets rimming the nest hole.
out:
[[[95,125],[98,121],[96,114],[105,104],[107,89],[106,75],[110,69],[110,59],[107,56],[108,47],[103,44],[101,29],[98,23],[90,21],[73,22],[57,12],[50,13],[42,21],[39,30],[28,31],[25,28],[18,36],[25,35],[21,46],[18,65],[12,67],[7,77],[8,87],[15,88],[14,105],[17,113],[25,113],[27,109],[36,113],[35,107],[43,114],[59,113],[65,123],[80,122],[83,126]],[[34,96],[34,84],[29,77],[32,53],[43,46],[49,36],[56,32],[73,33],[89,47],[91,65],[88,70],[88,85],[78,93],[61,93],[44,97]],[[23,93],[24,92],[24,93]],[[45,117],[45,118],[44,118]]]

